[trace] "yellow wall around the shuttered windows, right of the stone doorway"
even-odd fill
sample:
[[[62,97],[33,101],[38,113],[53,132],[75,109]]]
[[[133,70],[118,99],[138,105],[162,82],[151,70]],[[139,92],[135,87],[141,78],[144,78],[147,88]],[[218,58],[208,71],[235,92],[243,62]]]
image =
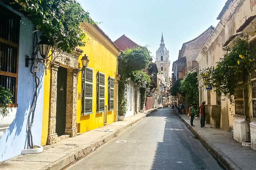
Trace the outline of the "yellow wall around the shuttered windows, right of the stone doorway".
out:
[[[87,108],[88,111],[86,112],[88,113],[83,113],[83,100],[78,99],[77,123],[78,132],[80,133],[96,129],[105,124],[116,121],[118,86],[114,83],[116,80],[113,80],[112,78],[115,79],[117,74],[117,56],[120,53],[118,47],[116,47],[116,45],[98,26],[83,23],[82,28],[86,33],[86,45],[85,47],[80,47],[80,49],[84,51],[82,56],[86,55],[90,59],[86,71],[92,72],[92,111]],[[80,65],[82,65],[82,63],[80,63]],[[83,99],[83,95],[81,95],[83,94],[82,87],[85,86],[86,83],[82,82],[82,74],[83,72],[80,72],[78,75],[77,91],[78,96],[82,96]],[[103,76],[104,85],[101,83],[101,78],[103,78]],[[97,77],[100,81],[97,80]],[[111,91],[113,90],[112,92],[114,92],[114,100],[111,100],[112,107],[114,106],[114,108],[111,109],[109,104],[109,78],[111,78],[112,87],[114,85],[114,89],[111,88]],[[90,78],[88,77],[88,79]],[[88,84],[90,83],[91,82],[88,82]],[[90,86],[88,87],[90,88]],[[104,89],[103,96],[98,94],[97,88],[100,88],[100,94],[101,89]],[[97,98],[99,98],[99,100],[97,100]],[[87,98],[87,100],[88,101],[85,102],[89,102],[90,98]],[[104,104],[102,104],[102,102],[104,102]]]

